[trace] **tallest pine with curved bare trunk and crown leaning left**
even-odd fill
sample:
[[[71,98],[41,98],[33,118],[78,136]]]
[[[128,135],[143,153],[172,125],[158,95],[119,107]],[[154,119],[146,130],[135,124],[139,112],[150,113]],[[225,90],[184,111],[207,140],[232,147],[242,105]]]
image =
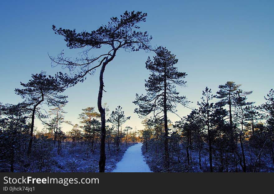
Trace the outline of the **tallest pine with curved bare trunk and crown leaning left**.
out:
[[[68,68],[74,72],[74,77],[71,78],[71,85],[77,82],[83,82],[87,74],[93,74],[94,70],[101,67],[100,71],[100,86],[98,93],[97,105],[101,114],[101,143],[100,143],[100,159],[99,172],[105,172],[106,154],[105,154],[105,138],[106,138],[106,118],[105,108],[102,106],[102,96],[104,90],[103,74],[106,65],[110,63],[117,54],[119,49],[125,51],[139,51],[140,49],[147,50],[150,48],[149,42],[152,39],[147,32],[136,31],[140,27],[140,22],[145,22],[146,13],[141,11],[125,11],[123,15],[112,17],[108,24],[99,27],[97,30],[91,32],[76,33],[75,29],[57,29],[53,25],[53,30],[56,34],[65,37],[67,46],[71,49],[83,48],[84,51],[80,58],[72,60],[65,57],[64,53],[60,53],[56,58],[50,57],[55,65],[61,65],[62,68]],[[102,46],[104,50],[102,53],[94,56],[90,52],[94,49],[100,49]],[[106,51],[106,49],[108,49]],[[62,73],[60,73],[62,77]],[[67,81],[67,80],[66,80]]]

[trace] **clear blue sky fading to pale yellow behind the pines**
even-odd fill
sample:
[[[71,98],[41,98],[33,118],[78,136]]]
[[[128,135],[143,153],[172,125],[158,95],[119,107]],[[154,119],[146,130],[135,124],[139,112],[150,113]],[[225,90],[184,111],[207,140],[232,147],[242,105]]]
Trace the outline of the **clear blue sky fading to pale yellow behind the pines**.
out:
[[[22,99],[14,93],[20,82],[27,82],[31,73],[41,70],[54,74],[51,56],[63,49],[67,56],[79,52],[69,50],[64,38],[51,27],[96,30],[112,16],[128,11],[147,12],[142,31],[152,35],[151,44],[166,46],[177,55],[178,70],[186,72],[187,87],[180,88],[191,107],[201,98],[205,86],[215,93],[227,81],[253,90],[250,101],[264,102],[264,95],[273,88],[274,70],[274,1],[5,1],[0,2],[0,102],[16,104]],[[144,79],[149,76],[145,61],[153,53],[118,51],[104,74],[103,101],[110,110],[121,105],[130,121],[124,125],[142,129],[135,93],[144,93]],[[69,103],[66,120],[78,123],[82,108],[97,106],[98,70],[84,83],[65,91]],[[97,108],[97,107],[96,107]],[[182,117],[189,109],[178,106]],[[169,115],[172,121],[179,117]],[[41,125],[36,122],[38,128]],[[64,126],[64,131],[71,127]]]

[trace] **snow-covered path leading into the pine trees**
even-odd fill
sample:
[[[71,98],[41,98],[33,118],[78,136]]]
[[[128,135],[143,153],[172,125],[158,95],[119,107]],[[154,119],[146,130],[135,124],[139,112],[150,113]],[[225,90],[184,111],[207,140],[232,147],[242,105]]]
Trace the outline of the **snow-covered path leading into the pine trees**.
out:
[[[142,145],[142,143],[138,143],[130,146],[112,172],[152,172],[144,161],[141,151]]]

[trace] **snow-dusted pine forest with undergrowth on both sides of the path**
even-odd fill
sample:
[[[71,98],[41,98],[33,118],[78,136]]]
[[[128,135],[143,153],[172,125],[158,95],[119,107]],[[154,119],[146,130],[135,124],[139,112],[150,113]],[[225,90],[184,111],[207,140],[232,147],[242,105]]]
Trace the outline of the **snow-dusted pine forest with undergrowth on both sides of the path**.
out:
[[[176,90],[187,86],[188,76],[178,70],[183,67],[176,55],[152,46],[148,32],[139,31],[146,17],[125,11],[91,32],[52,25],[69,49],[83,51],[75,59],[64,51],[49,56],[55,75],[31,74],[14,90],[21,102],[0,103],[0,172],[111,172],[136,143],[143,143],[144,160],[153,172],[274,172],[273,89],[262,94],[263,104],[256,104],[248,100],[252,90],[228,80],[219,83],[216,94],[205,87],[200,101],[191,102]],[[150,55],[140,64],[150,73],[144,94],[132,99],[132,114],[143,120],[143,129],[126,124],[130,116],[123,104],[110,110],[108,104],[115,102],[103,101],[104,71],[120,50]],[[69,96],[64,91],[87,82],[95,69],[100,70],[98,98],[78,108],[80,122],[72,123],[66,119]],[[178,115],[178,105],[191,112]],[[37,122],[44,127],[35,128]]]

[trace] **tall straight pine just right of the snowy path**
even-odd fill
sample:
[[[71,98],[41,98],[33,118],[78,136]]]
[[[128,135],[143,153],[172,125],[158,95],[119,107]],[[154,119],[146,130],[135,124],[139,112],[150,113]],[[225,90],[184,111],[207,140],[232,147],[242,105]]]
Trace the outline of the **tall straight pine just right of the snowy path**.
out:
[[[141,117],[153,113],[157,119],[164,118],[165,128],[165,165],[168,169],[168,116],[167,112],[176,112],[176,104],[186,105],[188,101],[185,96],[179,96],[175,86],[185,86],[185,81],[182,78],[186,77],[186,73],[178,72],[178,60],[175,55],[168,51],[166,48],[159,46],[156,51],[156,56],[151,60],[150,57],[146,61],[146,68],[152,72],[149,79],[145,81],[147,95],[136,94],[134,104],[139,108],[135,109]],[[161,116],[159,116],[161,115]]]

